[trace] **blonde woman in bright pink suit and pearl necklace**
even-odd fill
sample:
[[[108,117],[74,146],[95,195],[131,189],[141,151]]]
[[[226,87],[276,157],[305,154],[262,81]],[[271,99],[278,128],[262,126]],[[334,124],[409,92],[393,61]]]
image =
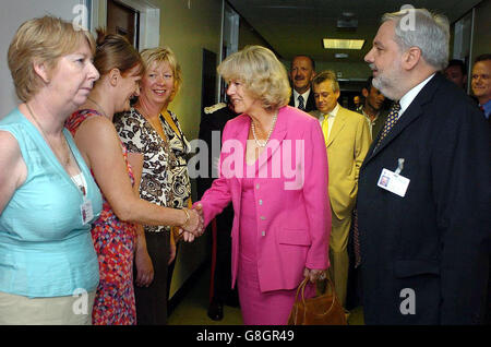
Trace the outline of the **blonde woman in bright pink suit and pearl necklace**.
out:
[[[196,204],[205,224],[233,204],[232,287],[237,280],[243,323],[286,324],[303,276],[313,283],[328,266],[324,137],[316,119],[287,106],[287,72],[271,50],[246,47],[218,73],[241,115],[226,124],[219,178]]]

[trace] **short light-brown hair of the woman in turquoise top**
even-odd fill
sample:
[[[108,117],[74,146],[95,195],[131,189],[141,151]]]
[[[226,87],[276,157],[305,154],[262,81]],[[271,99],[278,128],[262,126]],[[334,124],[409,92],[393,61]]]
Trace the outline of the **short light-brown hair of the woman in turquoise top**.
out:
[[[71,23],[49,15],[24,22],[15,33],[8,53],[19,98],[29,100],[44,85],[43,79],[34,71],[35,59],[52,70],[59,58],[76,50],[81,39],[87,41],[94,55],[94,37],[86,31],[75,29]]]

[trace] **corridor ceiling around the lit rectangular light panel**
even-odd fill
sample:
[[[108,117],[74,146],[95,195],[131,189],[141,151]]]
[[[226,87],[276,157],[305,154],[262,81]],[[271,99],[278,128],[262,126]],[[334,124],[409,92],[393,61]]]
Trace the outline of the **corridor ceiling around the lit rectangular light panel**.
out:
[[[453,23],[481,0],[227,0],[229,4],[285,60],[295,55],[310,55],[316,61],[360,62],[370,50],[373,37],[385,12],[398,11],[404,4],[426,8],[445,14]],[[337,29],[344,12],[358,20],[352,32]],[[326,50],[322,38],[363,38],[361,50]],[[345,52],[347,59],[334,58]]]

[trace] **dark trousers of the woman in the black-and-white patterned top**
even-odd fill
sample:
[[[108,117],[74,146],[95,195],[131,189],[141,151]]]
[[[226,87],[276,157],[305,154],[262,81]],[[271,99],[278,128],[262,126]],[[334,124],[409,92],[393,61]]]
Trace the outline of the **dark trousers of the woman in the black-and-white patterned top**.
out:
[[[146,248],[154,266],[154,280],[148,287],[134,286],[137,325],[167,324],[167,262],[170,238],[168,232],[145,231]],[[134,268],[136,278],[136,268]]]

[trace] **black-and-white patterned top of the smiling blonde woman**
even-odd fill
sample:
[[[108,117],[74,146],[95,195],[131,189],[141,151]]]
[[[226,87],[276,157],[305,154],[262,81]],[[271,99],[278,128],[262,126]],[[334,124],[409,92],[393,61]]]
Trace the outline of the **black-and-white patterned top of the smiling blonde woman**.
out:
[[[182,208],[191,196],[187,155],[191,146],[182,133],[176,115],[168,111],[176,123],[176,133],[160,115],[168,141],[164,141],[151,123],[135,108],[115,117],[115,125],[128,152],[143,154],[140,196],[161,206]],[[169,231],[168,226],[145,226],[145,231]]]

